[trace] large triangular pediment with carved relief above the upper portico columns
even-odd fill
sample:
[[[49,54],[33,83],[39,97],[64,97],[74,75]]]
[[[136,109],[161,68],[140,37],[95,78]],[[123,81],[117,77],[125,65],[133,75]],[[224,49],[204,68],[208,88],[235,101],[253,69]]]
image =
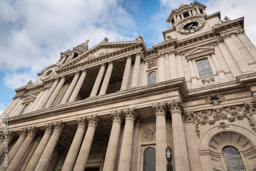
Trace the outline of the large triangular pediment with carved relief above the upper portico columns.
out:
[[[141,44],[142,47],[144,45],[143,41],[122,41],[122,42],[108,42],[108,43],[100,43],[95,47],[89,49],[88,51],[78,55],[71,61],[64,63],[62,66],[58,68],[58,70],[63,70],[65,68],[69,68],[75,65],[79,65],[80,63],[90,61],[90,60],[99,60],[99,58],[105,58],[105,56],[113,56],[113,54],[120,54],[119,51],[124,52],[124,49],[129,49],[133,46],[137,46]],[[146,48],[145,48],[146,49]],[[125,50],[127,51],[127,50]]]

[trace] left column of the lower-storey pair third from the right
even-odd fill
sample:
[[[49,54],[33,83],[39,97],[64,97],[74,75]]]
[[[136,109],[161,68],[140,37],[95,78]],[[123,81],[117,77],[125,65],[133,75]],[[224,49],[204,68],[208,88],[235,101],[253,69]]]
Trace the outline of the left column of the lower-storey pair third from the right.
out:
[[[86,132],[86,127],[87,127],[87,119],[86,117],[81,117],[79,119],[76,120],[77,121],[77,131],[76,131],[76,135],[72,141],[72,144],[69,148],[69,153],[66,157],[66,160],[62,166],[61,171],[72,171],[76,162],[76,158],[82,143],[82,138],[84,135],[84,132]]]

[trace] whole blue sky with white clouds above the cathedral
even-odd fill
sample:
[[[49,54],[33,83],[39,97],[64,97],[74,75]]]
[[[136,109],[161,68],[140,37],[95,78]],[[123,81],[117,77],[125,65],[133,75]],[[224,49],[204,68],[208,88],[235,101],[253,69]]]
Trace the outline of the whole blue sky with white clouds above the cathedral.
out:
[[[194,1],[183,1],[190,4]],[[245,32],[256,45],[255,0],[205,0],[206,13],[245,17]],[[5,0],[0,3],[0,113],[14,89],[34,82],[67,49],[90,39],[89,48],[109,41],[144,37],[146,47],[163,41],[162,31],[176,0]]]

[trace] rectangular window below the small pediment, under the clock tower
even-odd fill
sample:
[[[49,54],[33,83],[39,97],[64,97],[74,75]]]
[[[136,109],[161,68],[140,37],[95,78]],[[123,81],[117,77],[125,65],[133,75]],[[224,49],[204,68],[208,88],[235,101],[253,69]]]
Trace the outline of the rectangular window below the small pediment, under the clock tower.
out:
[[[196,60],[197,70],[200,77],[213,74],[210,68],[208,58]]]

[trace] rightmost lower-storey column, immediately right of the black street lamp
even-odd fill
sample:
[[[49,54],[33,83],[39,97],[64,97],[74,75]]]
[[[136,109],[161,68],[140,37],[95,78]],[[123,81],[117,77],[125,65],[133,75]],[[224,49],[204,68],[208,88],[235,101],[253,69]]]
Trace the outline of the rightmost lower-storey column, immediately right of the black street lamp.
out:
[[[176,171],[190,170],[184,125],[182,121],[183,103],[181,100],[167,102],[172,115],[173,143]]]

